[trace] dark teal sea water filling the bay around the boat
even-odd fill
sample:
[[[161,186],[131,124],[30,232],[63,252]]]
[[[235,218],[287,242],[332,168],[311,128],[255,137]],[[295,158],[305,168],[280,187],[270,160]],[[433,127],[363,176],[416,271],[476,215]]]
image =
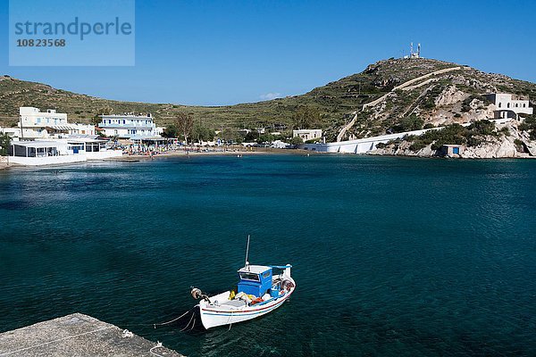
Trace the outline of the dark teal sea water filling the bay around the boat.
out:
[[[246,323],[189,286],[293,264]],[[188,356],[535,356],[536,161],[256,155],[0,172],[0,332],[72,312]],[[191,320],[190,320],[191,319]]]

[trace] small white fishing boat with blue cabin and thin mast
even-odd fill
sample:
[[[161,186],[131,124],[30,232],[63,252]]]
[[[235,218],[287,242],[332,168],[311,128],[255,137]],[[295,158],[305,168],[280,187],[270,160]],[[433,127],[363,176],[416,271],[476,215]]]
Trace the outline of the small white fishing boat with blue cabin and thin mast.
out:
[[[249,237],[247,237],[247,253]],[[239,283],[235,290],[208,296],[197,287],[191,288],[194,299],[200,300],[199,314],[203,326],[215,328],[252,320],[274,311],[289,300],[296,289],[290,277],[292,266],[251,265],[247,262],[238,270]]]

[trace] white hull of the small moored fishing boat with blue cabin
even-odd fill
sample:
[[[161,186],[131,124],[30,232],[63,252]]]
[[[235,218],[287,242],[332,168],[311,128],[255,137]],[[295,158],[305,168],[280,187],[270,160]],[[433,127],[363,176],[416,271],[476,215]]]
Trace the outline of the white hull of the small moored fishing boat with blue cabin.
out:
[[[285,277],[292,282],[292,287],[284,295],[280,295],[265,303],[258,303],[250,306],[233,307],[220,301],[228,300],[230,292],[225,292],[220,295],[215,295],[210,298],[211,302],[201,301],[199,303],[199,313],[201,322],[205,328],[215,328],[217,326],[230,325],[238,322],[252,320],[265,315],[268,312],[274,311],[283,303],[289,300],[290,295],[296,289],[296,283],[292,278]]]

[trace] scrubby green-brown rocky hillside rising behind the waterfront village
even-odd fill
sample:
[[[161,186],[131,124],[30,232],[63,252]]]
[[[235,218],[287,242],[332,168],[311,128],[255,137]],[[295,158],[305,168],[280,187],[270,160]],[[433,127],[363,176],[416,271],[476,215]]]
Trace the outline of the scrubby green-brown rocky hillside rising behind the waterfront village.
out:
[[[441,70],[448,71],[408,83]],[[320,113],[320,120],[314,125],[324,129],[328,140],[335,140],[354,118],[352,112],[357,112],[356,120],[341,137],[344,140],[485,119],[491,108],[482,94],[491,92],[534,100],[536,84],[456,63],[423,58],[389,59],[304,95],[253,104],[200,107],[111,101],[4,76],[0,77],[0,126],[13,125],[19,106],[26,105],[56,108],[67,112],[72,121],[90,120],[105,110],[153,112],[157,124],[165,126],[179,112],[188,112],[195,120],[204,120],[214,128],[257,128],[272,123],[291,128],[298,109],[306,107]],[[377,103],[364,108],[364,104],[373,101]]]

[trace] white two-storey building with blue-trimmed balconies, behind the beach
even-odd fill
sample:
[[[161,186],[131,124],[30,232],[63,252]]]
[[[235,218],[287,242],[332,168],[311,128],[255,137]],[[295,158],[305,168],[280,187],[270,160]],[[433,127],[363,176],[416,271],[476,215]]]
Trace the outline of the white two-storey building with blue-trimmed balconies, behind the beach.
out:
[[[155,122],[150,113],[147,115],[101,115],[100,129],[105,131],[106,137],[137,138],[157,137]]]

